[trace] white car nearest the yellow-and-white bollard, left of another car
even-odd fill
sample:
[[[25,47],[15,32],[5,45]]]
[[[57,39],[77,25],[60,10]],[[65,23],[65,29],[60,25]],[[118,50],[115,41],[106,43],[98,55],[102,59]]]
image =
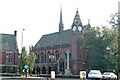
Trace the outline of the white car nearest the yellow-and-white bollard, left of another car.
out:
[[[102,74],[101,74],[100,70],[91,70],[88,73],[88,78],[89,79],[102,79]]]

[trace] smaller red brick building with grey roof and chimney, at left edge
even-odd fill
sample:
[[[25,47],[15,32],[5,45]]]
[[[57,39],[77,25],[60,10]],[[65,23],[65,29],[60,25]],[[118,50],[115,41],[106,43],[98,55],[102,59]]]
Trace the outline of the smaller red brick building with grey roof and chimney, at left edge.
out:
[[[17,31],[0,34],[0,73],[16,72],[18,67]]]

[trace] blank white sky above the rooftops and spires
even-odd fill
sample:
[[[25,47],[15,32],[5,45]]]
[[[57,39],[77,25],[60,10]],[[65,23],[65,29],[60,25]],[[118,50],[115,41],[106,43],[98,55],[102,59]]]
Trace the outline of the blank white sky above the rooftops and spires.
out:
[[[120,0],[0,0],[0,33],[14,34],[18,48],[35,46],[42,35],[59,30],[60,8],[64,30],[70,29],[76,10],[83,25],[109,25],[110,15],[118,12]],[[23,29],[25,29],[23,31]]]

